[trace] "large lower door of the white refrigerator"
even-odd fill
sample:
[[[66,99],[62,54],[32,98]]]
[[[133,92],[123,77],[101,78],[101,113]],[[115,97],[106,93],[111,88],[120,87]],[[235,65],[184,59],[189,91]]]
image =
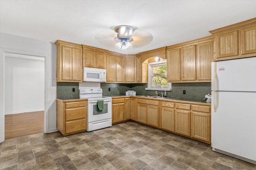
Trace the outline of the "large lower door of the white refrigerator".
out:
[[[256,93],[213,93],[212,147],[256,161]]]

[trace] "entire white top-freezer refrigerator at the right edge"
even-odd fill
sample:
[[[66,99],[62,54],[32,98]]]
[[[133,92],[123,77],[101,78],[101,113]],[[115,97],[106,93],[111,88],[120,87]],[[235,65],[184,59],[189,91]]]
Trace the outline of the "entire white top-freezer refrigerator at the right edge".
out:
[[[256,164],[256,57],[212,63],[212,150]]]

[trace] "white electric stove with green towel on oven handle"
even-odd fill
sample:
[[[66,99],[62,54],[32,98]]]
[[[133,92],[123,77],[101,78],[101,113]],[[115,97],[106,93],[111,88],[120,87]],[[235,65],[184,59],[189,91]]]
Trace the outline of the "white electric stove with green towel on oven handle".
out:
[[[112,98],[102,96],[101,88],[82,88],[79,89],[80,98],[87,100],[87,129],[94,131],[112,126]],[[98,100],[103,100],[104,109],[98,111]]]

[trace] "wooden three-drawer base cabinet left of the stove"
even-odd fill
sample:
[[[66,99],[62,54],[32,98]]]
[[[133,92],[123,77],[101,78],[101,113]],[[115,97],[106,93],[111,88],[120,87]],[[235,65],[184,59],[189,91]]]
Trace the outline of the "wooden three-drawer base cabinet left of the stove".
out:
[[[86,131],[87,102],[57,99],[57,128],[63,136]]]

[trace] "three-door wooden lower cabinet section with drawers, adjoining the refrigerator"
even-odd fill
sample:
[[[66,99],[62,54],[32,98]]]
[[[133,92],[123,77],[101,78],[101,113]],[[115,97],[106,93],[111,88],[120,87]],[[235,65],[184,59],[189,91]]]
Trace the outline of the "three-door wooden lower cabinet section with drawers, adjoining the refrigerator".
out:
[[[160,128],[211,143],[211,106],[161,102]]]

